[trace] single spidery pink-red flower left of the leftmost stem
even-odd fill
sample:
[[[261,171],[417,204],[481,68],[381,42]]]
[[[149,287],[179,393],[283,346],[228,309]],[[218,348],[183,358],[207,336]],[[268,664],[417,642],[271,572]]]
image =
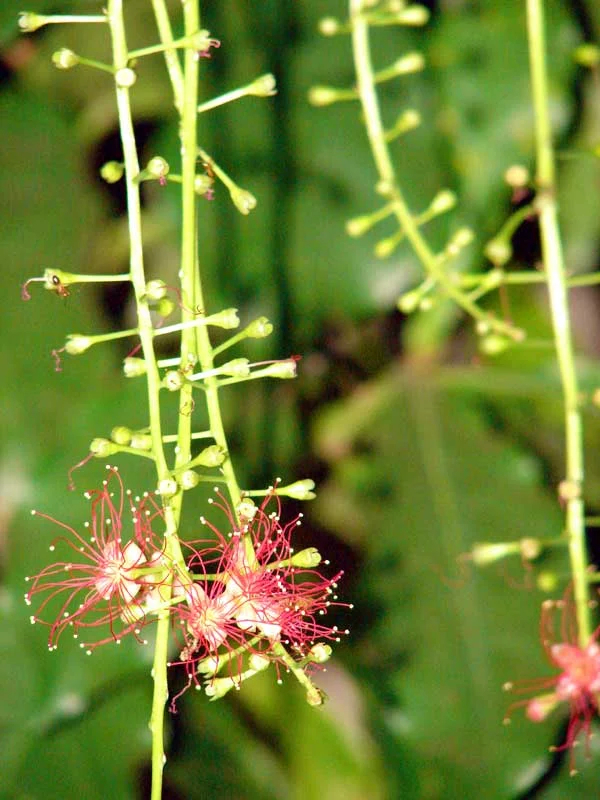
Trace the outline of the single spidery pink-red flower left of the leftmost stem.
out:
[[[36,516],[53,522],[67,532],[51,545],[54,552],[64,546],[72,559],[58,561],[37,575],[27,578],[31,584],[25,600],[31,605],[40,598],[40,605],[31,622],[50,627],[48,646],[56,649],[60,635],[71,628],[78,637],[81,628],[108,627],[109,635],[92,644],[81,643],[91,651],[98,644],[119,642],[133,633],[139,638],[141,627],[151,621],[145,602],[168,574],[165,559],[152,532],[152,522],[161,510],[151,496],[134,503],[127,492],[127,512],[132,516],[132,535],[123,538],[124,491],[116,467],[107,467],[110,475],[102,488],[85,493],[90,500],[91,519],[84,526],[91,535],[82,536],[74,528],[47,514]],[[117,487],[114,499],[111,484]],[[43,619],[53,615],[51,622]]]

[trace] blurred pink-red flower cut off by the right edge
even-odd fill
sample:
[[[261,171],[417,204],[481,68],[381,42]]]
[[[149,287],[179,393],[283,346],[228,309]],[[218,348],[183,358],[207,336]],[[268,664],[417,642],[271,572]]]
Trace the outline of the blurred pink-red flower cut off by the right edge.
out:
[[[592,720],[598,714],[600,702],[600,645],[597,643],[600,628],[596,629],[588,644],[582,647],[577,638],[575,609],[570,590],[564,599],[546,600],[542,604],[541,636],[542,644],[548,660],[559,670],[550,678],[523,682],[507,683],[505,689],[518,693],[531,694],[533,698],[513,703],[508,709],[505,722],[510,721],[510,714],[515,708],[524,707],[527,717],[532,722],[543,722],[557,707],[567,704],[569,707],[569,724],[563,744],[551,750],[571,750],[570,766],[574,775],[575,758],[573,748],[577,745],[579,735],[583,732],[588,755],[589,740],[592,735]],[[554,630],[556,610],[561,613],[560,633]]]

